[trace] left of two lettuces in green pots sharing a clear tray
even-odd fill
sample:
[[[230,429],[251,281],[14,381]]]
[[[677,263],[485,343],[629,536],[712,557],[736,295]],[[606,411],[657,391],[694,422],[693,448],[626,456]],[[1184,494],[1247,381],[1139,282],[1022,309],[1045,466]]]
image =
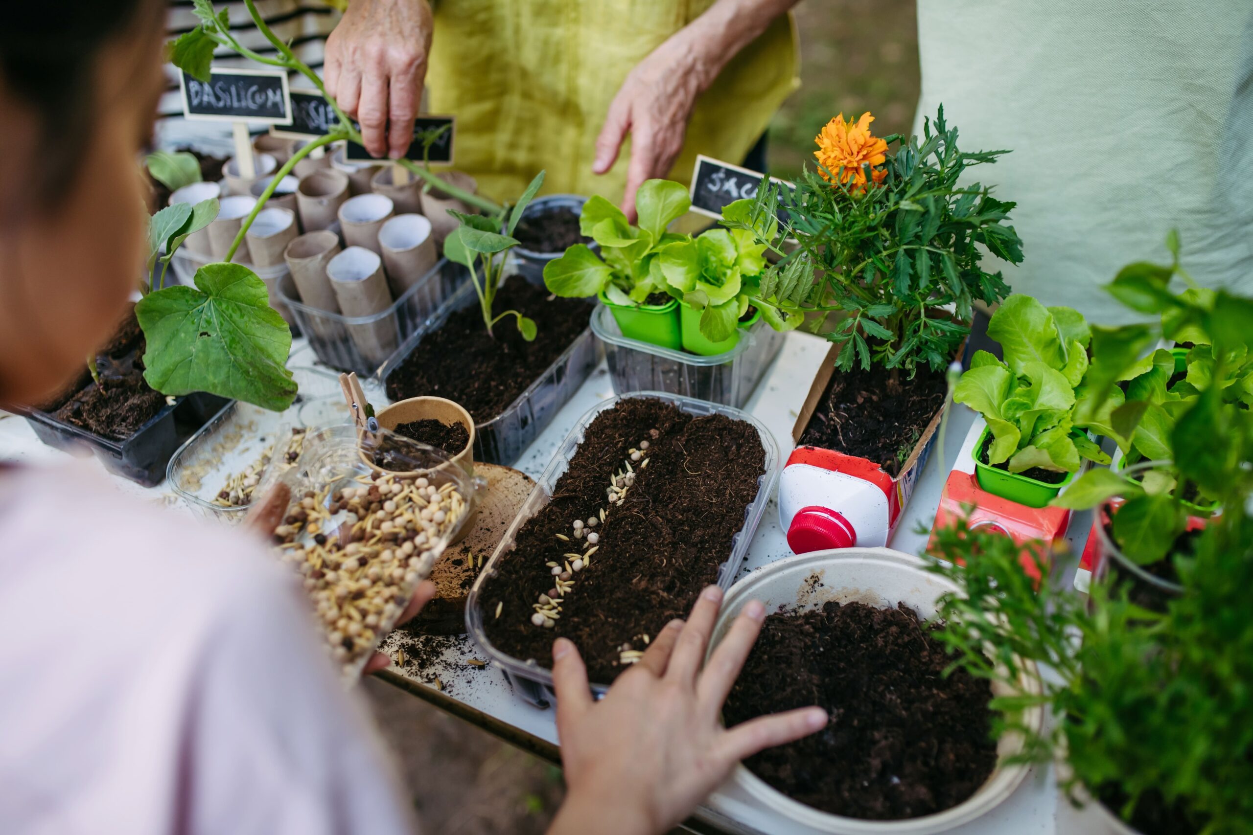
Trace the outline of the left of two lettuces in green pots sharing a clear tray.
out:
[[[687,189],[669,180],[648,180],[635,194],[639,225],[603,197],[583,207],[579,228],[600,244],[600,254],[575,244],[544,267],[544,284],[563,298],[598,297],[628,339],[678,351],[678,303],[662,273],[660,253],[688,235],[665,230],[692,205]],[[667,297],[657,304],[658,294]],[[654,303],[649,304],[649,297]]]

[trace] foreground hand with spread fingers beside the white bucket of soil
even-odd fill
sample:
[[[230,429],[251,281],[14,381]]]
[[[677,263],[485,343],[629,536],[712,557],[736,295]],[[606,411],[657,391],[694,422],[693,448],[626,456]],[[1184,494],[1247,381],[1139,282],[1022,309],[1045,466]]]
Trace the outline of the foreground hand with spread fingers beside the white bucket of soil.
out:
[[[722,727],[718,714],[757,641],[766,608],[747,603],[702,671],[720,602],[720,588],[705,588],[688,622],[669,623],[599,704],[574,643],[558,638],[553,645],[556,727],[569,794],[549,835],[667,831],[739,760],[827,724],[822,709],[803,707]]]

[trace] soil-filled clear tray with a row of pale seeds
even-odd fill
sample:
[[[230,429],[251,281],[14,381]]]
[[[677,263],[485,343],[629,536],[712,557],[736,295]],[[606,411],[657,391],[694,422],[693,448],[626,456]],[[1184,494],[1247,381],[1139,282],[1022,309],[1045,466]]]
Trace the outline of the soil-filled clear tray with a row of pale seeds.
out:
[[[729,407],[643,393],[585,414],[466,606],[471,637],[529,701],[551,701],[550,647],[573,640],[603,692],[700,590],[728,587],[778,451]]]

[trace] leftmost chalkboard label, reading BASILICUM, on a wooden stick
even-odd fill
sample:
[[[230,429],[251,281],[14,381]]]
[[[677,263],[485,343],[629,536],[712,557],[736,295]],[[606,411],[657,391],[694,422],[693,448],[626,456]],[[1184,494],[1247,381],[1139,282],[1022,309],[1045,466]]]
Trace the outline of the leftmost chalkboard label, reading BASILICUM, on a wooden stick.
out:
[[[179,78],[188,119],[292,124],[291,90],[282,70],[212,70],[208,81],[184,70]]]

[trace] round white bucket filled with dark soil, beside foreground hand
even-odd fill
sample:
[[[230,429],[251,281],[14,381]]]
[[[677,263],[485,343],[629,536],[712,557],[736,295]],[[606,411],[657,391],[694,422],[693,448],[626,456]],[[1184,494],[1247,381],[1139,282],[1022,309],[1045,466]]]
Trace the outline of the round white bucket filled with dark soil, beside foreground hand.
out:
[[[990,699],[1037,695],[1039,674],[1015,660],[1014,686],[965,671],[927,618],[956,585],[922,557],[890,548],[814,551],[772,562],[727,593],[713,653],[752,600],[768,612],[723,707],[728,727],[763,714],[818,705],[818,734],[768,749],[732,782],[763,810],[806,831],[949,831],[1009,797],[1029,766],[1016,731],[991,739]],[[1004,717],[1040,732],[1044,711]],[[902,821],[867,825],[857,821]],[[907,821],[907,822],[905,822]]]

